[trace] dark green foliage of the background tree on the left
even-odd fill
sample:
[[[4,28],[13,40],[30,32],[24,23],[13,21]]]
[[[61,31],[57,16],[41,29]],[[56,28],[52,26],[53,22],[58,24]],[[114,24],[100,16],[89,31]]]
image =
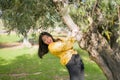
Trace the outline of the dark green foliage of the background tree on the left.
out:
[[[0,8],[5,27],[25,36],[31,28],[53,26],[60,21],[50,0],[0,0]]]

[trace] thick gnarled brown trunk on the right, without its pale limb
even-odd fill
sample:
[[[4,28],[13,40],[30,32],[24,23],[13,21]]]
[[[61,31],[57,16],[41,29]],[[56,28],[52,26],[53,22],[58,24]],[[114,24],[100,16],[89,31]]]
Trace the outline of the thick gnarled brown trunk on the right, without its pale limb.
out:
[[[89,52],[90,58],[99,65],[108,80],[120,79],[120,53],[110,47],[97,28],[92,26],[79,45]]]

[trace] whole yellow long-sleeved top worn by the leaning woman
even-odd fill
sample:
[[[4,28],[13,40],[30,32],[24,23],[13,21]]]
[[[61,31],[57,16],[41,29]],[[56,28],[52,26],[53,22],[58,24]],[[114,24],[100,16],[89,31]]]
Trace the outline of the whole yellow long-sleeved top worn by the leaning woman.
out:
[[[71,59],[72,54],[77,54],[77,52],[73,50],[74,42],[75,39],[73,37],[69,37],[66,40],[61,40],[49,44],[48,49],[51,54],[60,58],[62,65],[66,65]]]

